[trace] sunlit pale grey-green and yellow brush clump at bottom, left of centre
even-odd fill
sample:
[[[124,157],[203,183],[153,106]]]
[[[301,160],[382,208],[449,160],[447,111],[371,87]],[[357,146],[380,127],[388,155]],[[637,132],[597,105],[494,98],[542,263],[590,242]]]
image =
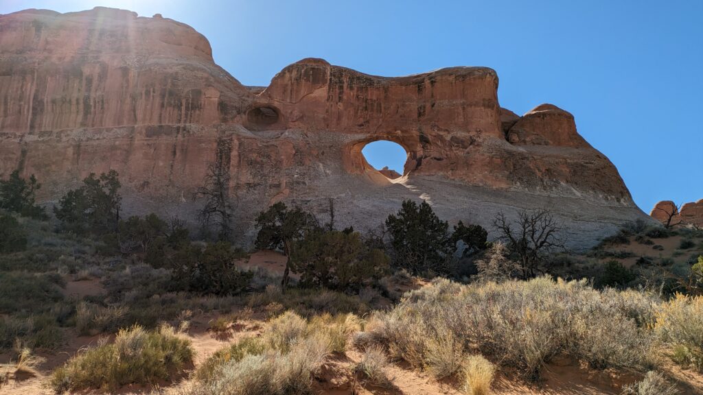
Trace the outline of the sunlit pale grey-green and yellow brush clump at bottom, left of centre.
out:
[[[308,394],[325,358],[344,352],[359,329],[353,314],[307,321],[293,311],[269,320],[260,337],[215,352],[195,374],[191,395]]]

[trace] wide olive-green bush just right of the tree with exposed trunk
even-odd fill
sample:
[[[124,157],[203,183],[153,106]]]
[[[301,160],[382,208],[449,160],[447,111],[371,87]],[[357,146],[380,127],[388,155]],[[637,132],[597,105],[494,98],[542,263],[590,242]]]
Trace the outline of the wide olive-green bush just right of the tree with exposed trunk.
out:
[[[356,232],[314,231],[295,243],[291,271],[302,285],[358,291],[388,271],[389,258],[369,249]]]

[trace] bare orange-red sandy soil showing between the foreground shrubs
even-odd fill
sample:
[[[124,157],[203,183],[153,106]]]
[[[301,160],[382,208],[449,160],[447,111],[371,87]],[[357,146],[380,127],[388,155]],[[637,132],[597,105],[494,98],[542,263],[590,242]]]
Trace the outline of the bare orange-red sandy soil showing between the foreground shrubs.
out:
[[[673,240],[672,240],[673,242]],[[252,254],[251,259],[243,263],[245,266],[259,266],[271,271],[273,274],[280,274],[285,267],[285,257],[276,252],[257,252]],[[65,292],[75,296],[86,296],[100,294],[102,291],[98,280],[70,281],[67,283]],[[254,315],[256,316],[256,315]],[[224,334],[215,334],[208,330],[209,321],[217,318],[217,313],[203,313],[193,316],[191,326],[186,333],[191,339],[195,349],[195,366],[198,366],[217,349],[236,342],[241,337],[257,335],[262,330],[263,318],[252,318],[239,321],[236,327],[231,328]],[[99,336],[79,337],[75,335],[73,329],[66,330],[66,338],[70,339],[67,344],[57,351],[51,353],[41,353],[39,356],[46,358],[46,362],[39,366],[36,377],[24,377],[23,380],[10,380],[3,387],[0,387],[0,394],[3,395],[29,395],[53,394],[53,391],[46,387],[46,380],[51,374],[51,370],[67,361],[70,356],[79,352],[85,347],[92,347],[98,342]],[[361,354],[358,351],[348,351],[346,356],[334,356],[323,366],[316,390],[321,394],[334,395],[356,395],[356,394],[387,394],[387,395],[423,395],[423,394],[462,394],[457,382],[437,381],[427,373],[413,370],[402,363],[396,363],[389,368],[389,377],[393,378],[394,387],[379,388],[366,385],[363,380],[354,377],[350,372],[356,361],[359,361]],[[0,354],[0,363],[8,363],[10,354]],[[0,365],[0,376],[8,371],[7,365]],[[678,380],[693,383],[689,387],[681,387],[683,394],[703,394],[703,375],[690,370],[681,370],[671,365],[669,369],[671,376]],[[612,370],[591,370],[570,358],[554,358],[544,369],[544,378],[536,384],[527,384],[516,379],[510,370],[501,370],[494,382],[493,389],[496,395],[596,395],[596,394],[620,394],[623,384],[628,384],[638,379],[637,375],[617,373]],[[169,394],[177,389],[182,389],[188,385],[187,380],[183,380],[167,387],[126,387],[117,393],[119,394]],[[114,392],[113,392],[114,393]],[[101,394],[99,391],[82,392],[84,395]]]

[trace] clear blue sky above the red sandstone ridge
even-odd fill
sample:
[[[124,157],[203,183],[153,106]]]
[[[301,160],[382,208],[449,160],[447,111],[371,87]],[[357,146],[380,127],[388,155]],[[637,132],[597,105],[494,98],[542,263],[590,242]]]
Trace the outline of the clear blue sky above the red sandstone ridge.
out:
[[[702,0],[0,0],[0,13],[97,5],[195,27],[247,85],[309,56],[386,76],[493,67],[503,107],[572,112],[646,212],[703,198]]]

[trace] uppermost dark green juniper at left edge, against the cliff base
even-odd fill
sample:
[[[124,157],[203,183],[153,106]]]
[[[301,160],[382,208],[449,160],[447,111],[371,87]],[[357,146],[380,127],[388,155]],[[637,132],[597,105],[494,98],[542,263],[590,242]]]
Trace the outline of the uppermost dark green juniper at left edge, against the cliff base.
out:
[[[41,184],[34,177],[29,180],[20,177],[20,171],[13,171],[7,180],[0,180],[0,209],[16,212],[22,216],[44,219],[44,208],[35,204],[35,196]]]

